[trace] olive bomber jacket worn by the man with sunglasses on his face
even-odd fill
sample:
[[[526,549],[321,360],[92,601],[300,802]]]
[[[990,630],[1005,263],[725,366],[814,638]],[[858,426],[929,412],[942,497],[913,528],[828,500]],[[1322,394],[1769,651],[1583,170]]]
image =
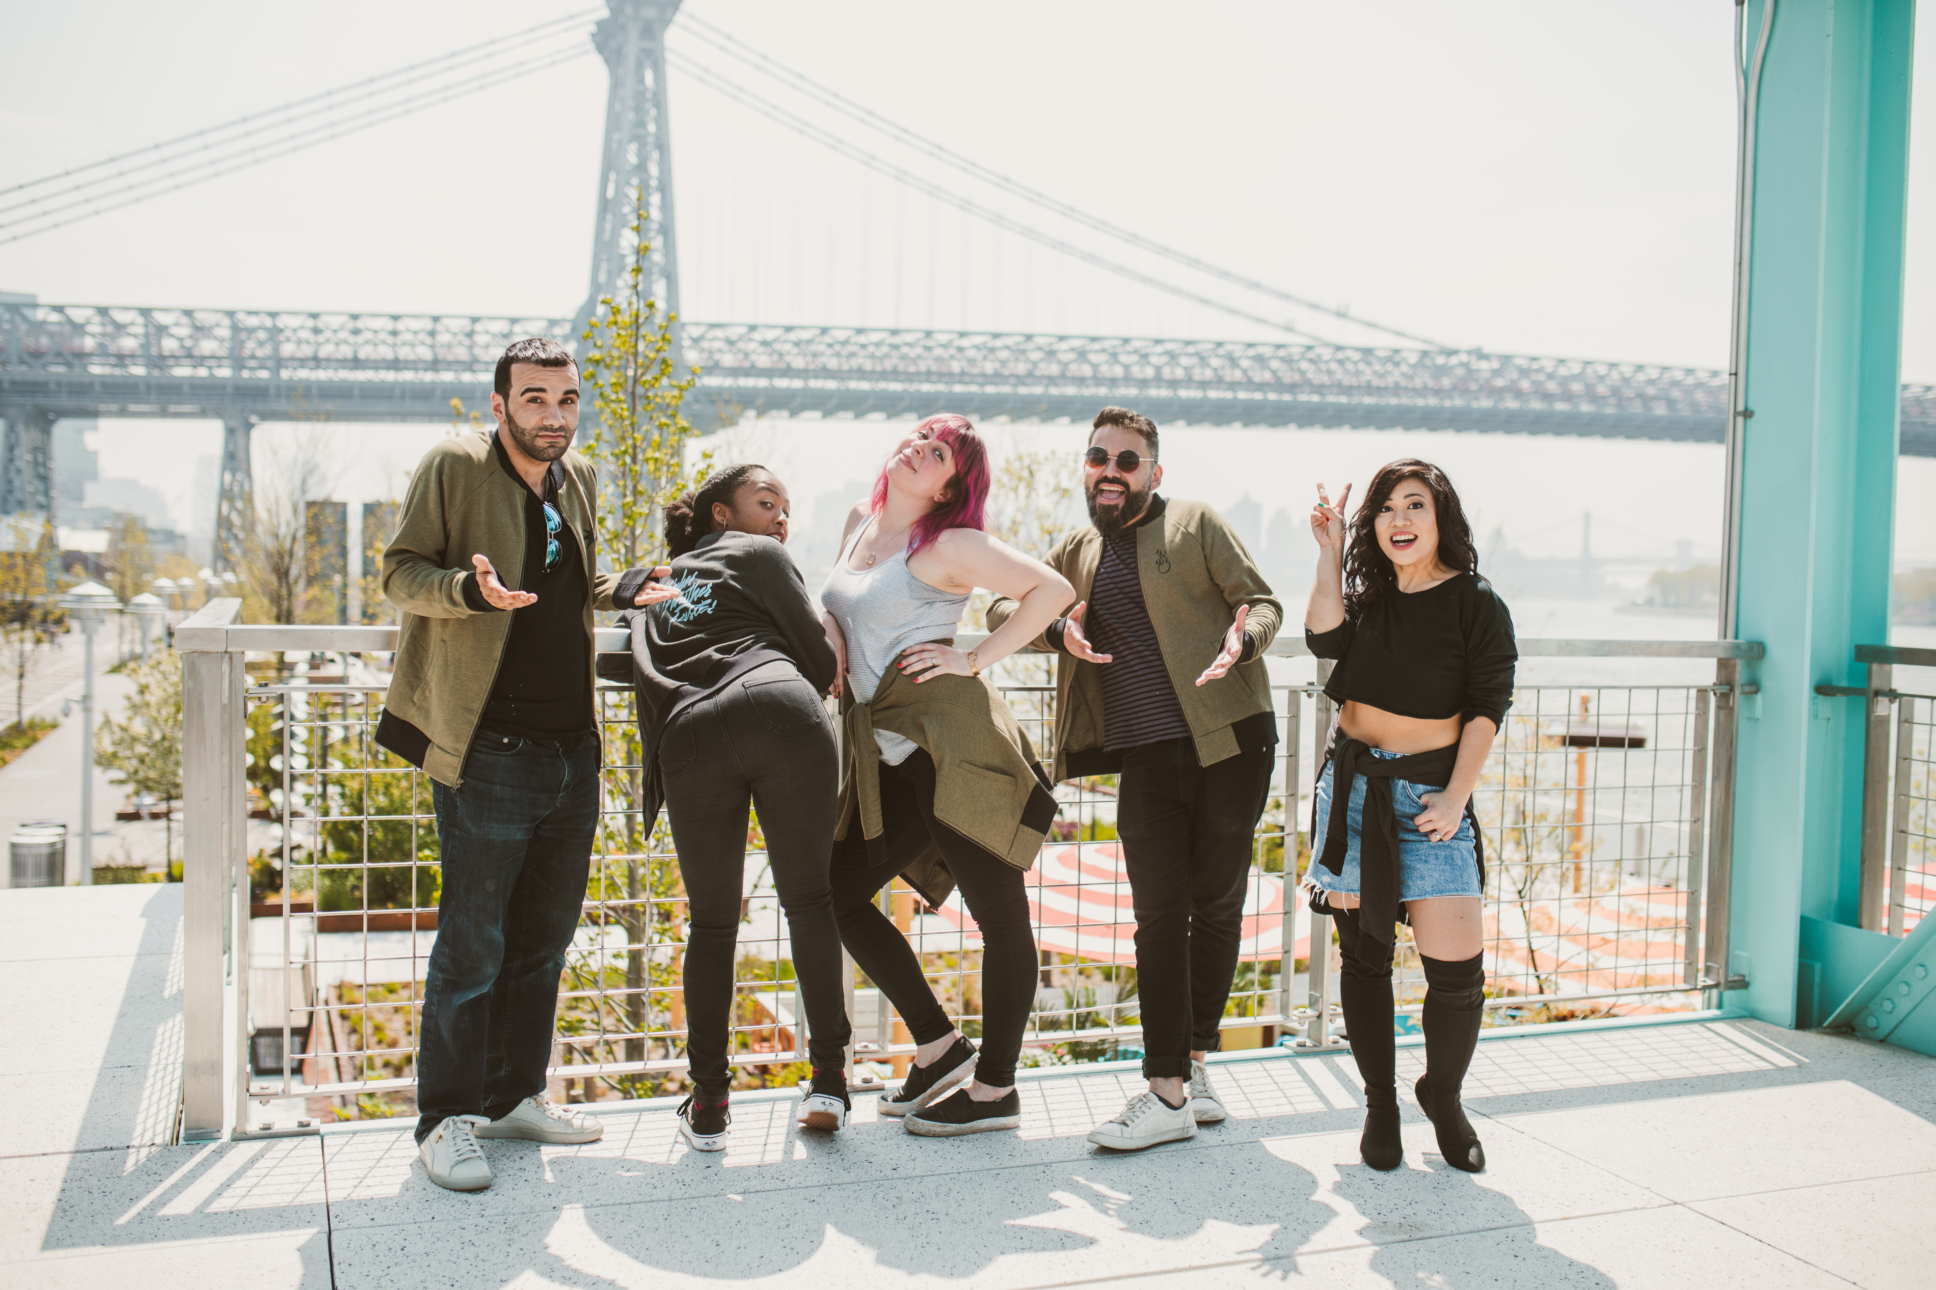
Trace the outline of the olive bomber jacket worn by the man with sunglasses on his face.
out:
[[[1150,506],[1154,513],[1136,525],[1142,600],[1150,626],[1156,628],[1156,645],[1177,691],[1177,705],[1196,742],[1196,759],[1212,765],[1243,752],[1237,722],[1274,711],[1264,651],[1278,639],[1284,606],[1220,513],[1202,502],[1179,498],[1158,496]],[[1086,602],[1096,583],[1096,566],[1102,564],[1102,533],[1084,525],[1057,542],[1044,562],[1069,579],[1076,602]],[[1239,604],[1251,606],[1243,624],[1249,643],[1245,659],[1222,680],[1198,686],[1196,678],[1224,647]],[[989,631],[1009,622],[1014,606],[1009,597],[997,599],[987,610]],[[1082,763],[1096,757],[1082,753],[1102,750],[1098,668],[1104,664],[1055,649],[1045,635],[1036,637],[1030,649],[1055,653],[1055,779],[1092,773]],[[1076,769],[1071,769],[1071,755]]]

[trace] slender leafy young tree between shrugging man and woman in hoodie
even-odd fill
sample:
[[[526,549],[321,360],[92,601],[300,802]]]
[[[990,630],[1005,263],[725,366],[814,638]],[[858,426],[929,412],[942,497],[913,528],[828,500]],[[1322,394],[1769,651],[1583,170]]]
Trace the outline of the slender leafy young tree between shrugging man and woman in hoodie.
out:
[[[697,471],[687,471],[685,455],[697,438],[681,405],[699,380],[699,370],[685,376],[676,370],[678,318],[660,310],[647,294],[645,265],[650,244],[645,240],[645,198],[633,190],[635,217],[631,225],[633,256],[621,289],[598,300],[592,323],[585,331],[587,351],[581,380],[592,395],[594,426],[585,455],[598,467],[598,546],[616,568],[658,564],[666,550],[662,507],[674,496],[693,486],[705,475],[705,459]],[[457,409],[453,409],[457,413]],[[604,724],[608,763],[639,765],[637,722],[625,711]],[[685,939],[683,903],[678,864],[672,862],[664,829],[647,831],[637,812],[643,792],[641,773],[625,771],[604,781],[606,810],[600,815],[598,862],[592,868],[589,899],[602,903],[600,918],[616,922],[625,932],[623,951],[623,1017],[579,1017],[571,1007],[560,1013],[560,1034],[625,1034],[620,1060],[645,1061],[647,1032],[654,1013],[676,1013],[681,999],[676,990],[672,961],[652,961],[650,945],[678,945]],[[616,974],[610,967],[569,963],[567,978],[573,990],[590,978]],[[618,982],[602,982],[606,988]],[[579,1044],[563,1046],[571,1061]],[[652,1081],[625,1077],[610,1081],[627,1094],[650,1092]]]

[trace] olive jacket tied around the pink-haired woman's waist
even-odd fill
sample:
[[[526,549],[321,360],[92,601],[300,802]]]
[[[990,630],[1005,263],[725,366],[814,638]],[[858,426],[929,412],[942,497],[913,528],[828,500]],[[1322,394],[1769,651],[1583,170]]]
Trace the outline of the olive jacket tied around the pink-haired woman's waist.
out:
[[[856,703],[848,693],[840,709],[846,738],[836,839],[860,823],[869,854],[885,846],[881,746],[873,732],[889,730],[933,757],[935,819],[1018,870],[1034,868],[1055,821],[1055,794],[1028,734],[985,676],[949,672],[916,684],[891,666],[873,703]],[[900,875],[929,908],[954,891],[939,846],[927,846]]]

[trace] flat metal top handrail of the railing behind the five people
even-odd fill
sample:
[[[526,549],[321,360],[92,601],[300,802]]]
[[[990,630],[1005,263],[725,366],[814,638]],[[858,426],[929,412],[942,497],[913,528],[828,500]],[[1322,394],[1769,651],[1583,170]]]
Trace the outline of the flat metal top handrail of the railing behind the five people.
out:
[[[627,637],[623,628],[598,628],[598,653],[625,653]],[[397,628],[364,626],[310,626],[310,624],[203,624],[196,614],[174,630],[178,649],[215,651],[310,651],[310,653],[378,653],[397,649]],[[964,631],[958,643],[972,649],[985,641],[982,633]],[[1760,641],[1595,641],[1574,637],[1520,637],[1522,659],[1762,659],[1766,649]],[[1857,657],[1860,657],[1859,647]],[[1936,666],[1936,651],[1907,651],[1926,655]],[[1280,635],[1268,655],[1272,659],[1309,659],[1301,635]]]

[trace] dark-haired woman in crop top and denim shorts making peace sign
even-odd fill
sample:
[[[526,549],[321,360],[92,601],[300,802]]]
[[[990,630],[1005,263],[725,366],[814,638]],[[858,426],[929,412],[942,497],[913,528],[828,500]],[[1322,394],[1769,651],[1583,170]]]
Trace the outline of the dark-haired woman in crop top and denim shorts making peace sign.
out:
[[[1485,856],[1471,792],[1512,705],[1512,616],[1479,577],[1444,471],[1409,457],[1380,467],[1347,523],[1349,496],[1347,484],[1332,506],[1320,484],[1311,509],[1320,554],[1305,641],[1336,660],[1324,693],[1340,707],[1305,885],[1338,924],[1340,1003],[1365,1079],[1365,1164],[1392,1170],[1404,1158],[1392,1042],[1392,928],[1404,916],[1427,982],[1419,1106],[1446,1164],[1475,1172],[1485,1151],[1460,1108],[1485,1005]]]

